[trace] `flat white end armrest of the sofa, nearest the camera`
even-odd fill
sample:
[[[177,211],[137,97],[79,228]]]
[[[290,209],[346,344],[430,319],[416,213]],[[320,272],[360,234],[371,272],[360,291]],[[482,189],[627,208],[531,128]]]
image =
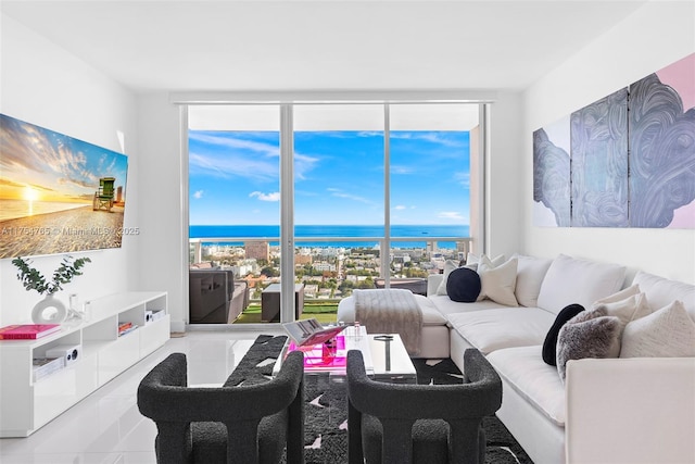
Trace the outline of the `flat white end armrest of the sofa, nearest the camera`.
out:
[[[567,364],[567,463],[695,462],[695,358]]]

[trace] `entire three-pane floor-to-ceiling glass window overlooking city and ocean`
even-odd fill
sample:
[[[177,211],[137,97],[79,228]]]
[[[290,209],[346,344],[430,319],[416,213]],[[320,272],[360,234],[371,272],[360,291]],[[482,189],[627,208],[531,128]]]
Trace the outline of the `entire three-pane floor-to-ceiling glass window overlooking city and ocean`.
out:
[[[190,105],[191,323],[328,324],[355,288],[424,293],[428,274],[469,249],[478,114],[463,103]]]

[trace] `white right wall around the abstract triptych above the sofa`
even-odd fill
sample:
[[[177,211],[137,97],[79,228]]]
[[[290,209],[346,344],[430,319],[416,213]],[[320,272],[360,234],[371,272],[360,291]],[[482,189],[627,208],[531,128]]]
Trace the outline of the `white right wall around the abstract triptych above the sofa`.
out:
[[[544,228],[532,223],[532,133],[695,51],[695,3],[648,2],[523,95],[525,253],[566,253],[695,283],[695,230]],[[539,51],[542,52],[542,51]]]

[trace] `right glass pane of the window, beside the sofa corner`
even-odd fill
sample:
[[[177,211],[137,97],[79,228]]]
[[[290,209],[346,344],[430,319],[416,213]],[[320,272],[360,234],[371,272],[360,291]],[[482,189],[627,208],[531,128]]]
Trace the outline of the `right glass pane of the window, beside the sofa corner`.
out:
[[[390,123],[391,237],[409,239],[392,242],[395,284],[420,269],[439,272],[442,258],[467,250],[470,130],[478,126],[478,105],[393,104]]]

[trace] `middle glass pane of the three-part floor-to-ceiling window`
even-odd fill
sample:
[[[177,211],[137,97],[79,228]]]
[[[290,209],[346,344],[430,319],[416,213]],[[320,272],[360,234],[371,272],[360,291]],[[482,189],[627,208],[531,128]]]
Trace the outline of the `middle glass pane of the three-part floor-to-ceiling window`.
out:
[[[381,104],[294,106],[294,263],[305,311],[329,312],[353,288],[375,288],[384,237],[383,120]]]

